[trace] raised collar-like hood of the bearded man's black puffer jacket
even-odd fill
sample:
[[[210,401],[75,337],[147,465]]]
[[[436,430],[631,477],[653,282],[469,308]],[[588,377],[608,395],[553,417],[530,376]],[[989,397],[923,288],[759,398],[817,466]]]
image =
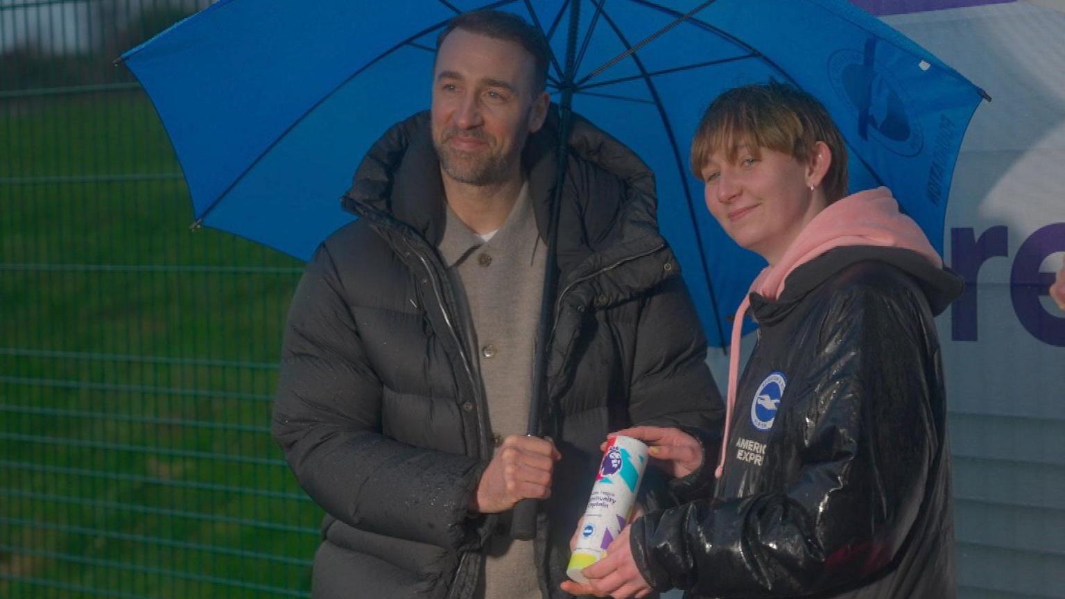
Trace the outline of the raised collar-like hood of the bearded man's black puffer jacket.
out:
[[[645,226],[657,230],[654,175],[648,165],[624,144],[579,115],[574,115],[570,134],[570,155],[618,177],[634,193],[626,194],[628,206],[621,215],[604,218],[584,214],[584,225],[610,227],[616,223]],[[530,194],[537,227],[546,237],[546,222],[557,173],[558,116],[552,104],[544,126],[526,140],[522,163],[530,181]],[[430,244],[443,236],[444,189],[440,162],[432,146],[430,113],[423,111],[392,126],[370,148],[355,173],[351,188],[342,198],[344,208],[366,215],[376,210],[413,227]],[[592,210],[595,208],[592,207]],[[595,240],[604,231],[583,231]],[[559,239],[572,239],[559,230]],[[564,237],[563,237],[564,236]],[[625,236],[625,237],[632,237]],[[588,245],[592,245],[589,241]],[[564,249],[564,248],[562,248]],[[561,260],[561,257],[560,257]]]

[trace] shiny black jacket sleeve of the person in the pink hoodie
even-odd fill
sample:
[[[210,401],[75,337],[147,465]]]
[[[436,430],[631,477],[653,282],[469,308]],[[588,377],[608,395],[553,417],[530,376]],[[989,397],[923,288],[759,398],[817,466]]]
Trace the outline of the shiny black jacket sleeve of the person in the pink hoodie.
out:
[[[887,567],[917,518],[940,438],[925,349],[932,326],[912,290],[836,294],[809,372],[786,396],[813,406],[797,418],[816,419],[794,449],[798,474],[780,492],[701,499],[634,523],[633,552],[649,582],[712,597],[790,597],[843,590]]]

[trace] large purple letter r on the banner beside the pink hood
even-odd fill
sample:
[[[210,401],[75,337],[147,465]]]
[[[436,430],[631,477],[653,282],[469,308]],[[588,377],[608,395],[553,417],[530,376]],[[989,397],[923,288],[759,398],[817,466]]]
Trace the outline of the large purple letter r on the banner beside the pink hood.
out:
[[[965,291],[950,308],[950,338],[954,341],[977,340],[977,276],[988,258],[1009,255],[1009,242],[1010,232],[1003,225],[987,229],[980,239],[972,227],[950,230],[950,268],[965,280]]]

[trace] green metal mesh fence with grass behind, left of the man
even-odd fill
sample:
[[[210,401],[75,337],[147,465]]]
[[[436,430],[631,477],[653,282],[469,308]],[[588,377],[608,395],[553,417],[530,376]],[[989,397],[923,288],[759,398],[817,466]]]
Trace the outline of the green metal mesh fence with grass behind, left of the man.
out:
[[[269,437],[301,265],[211,230],[112,61],[207,0],[0,0],[0,597],[305,597]]]

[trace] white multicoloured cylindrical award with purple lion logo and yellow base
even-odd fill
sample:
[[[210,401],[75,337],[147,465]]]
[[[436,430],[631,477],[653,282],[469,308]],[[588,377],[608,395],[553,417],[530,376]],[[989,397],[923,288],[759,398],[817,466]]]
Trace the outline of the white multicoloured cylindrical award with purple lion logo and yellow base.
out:
[[[612,437],[607,442],[581,520],[577,545],[566,569],[571,579],[587,584],[588,580],[580,570],[599,562],[606,548],[628,523],[646,465],[648,446],[642,441],[632,437]]]

